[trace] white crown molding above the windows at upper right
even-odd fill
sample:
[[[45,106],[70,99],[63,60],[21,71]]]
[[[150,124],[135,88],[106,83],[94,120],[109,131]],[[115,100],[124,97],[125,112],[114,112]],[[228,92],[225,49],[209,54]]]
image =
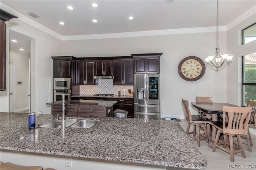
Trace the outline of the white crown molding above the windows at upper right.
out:
[[[244,12],[242,15],[240,15],[236,19],[234,19],[232,22],[230,22],[227,25],[227,30],[230,30],[231,28],[233,28],[237,24],[241,23],[242,21],[246,20],[247,18],[249,18],[253,14],[256,14],[256,5],[252,6],[252,8],[250,8],[249,10]]]

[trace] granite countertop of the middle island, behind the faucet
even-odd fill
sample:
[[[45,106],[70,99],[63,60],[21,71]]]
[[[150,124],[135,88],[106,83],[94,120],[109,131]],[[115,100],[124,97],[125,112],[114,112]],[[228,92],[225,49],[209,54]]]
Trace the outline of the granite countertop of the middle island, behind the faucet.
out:
[[[104,101],[104,100],[70,100],[65,101],[65,105],[77,105],[77,106],[100,106],[100,107],[112,107],[117,101]],[[62,101],[54,101],[46,103],[46,105],[62,105]]]

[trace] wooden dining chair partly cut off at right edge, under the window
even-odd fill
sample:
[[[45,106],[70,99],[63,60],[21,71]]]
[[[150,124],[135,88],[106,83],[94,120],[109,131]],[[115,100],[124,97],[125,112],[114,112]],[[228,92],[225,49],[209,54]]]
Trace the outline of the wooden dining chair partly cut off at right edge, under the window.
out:
[[[251,101],[251,100],[248,100],[246,101],[246,104],[247,104],[247,107],[252,107],[252,113],[251,113],[251,116],[250,116],[250,120],[249,120],[249,124],[248,124],[248,132],[246,134],[246,136],[242,136],[242,138],[245,138],[246,140],[242,140],[242,143],[243,144],[247,144],[248,146],[248,150],[250,152],[252,152],[252,138],[251,138],[251,134],[250,134],[250,131],[249,131],[249,127],[256,127],[256,101]]]

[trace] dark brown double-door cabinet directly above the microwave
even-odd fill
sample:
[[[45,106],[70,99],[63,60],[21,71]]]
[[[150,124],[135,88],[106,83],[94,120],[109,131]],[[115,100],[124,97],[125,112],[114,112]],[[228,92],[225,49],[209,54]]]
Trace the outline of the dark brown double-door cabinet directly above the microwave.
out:
[[[54,59],[53,77],[71,77],[71,60]]]

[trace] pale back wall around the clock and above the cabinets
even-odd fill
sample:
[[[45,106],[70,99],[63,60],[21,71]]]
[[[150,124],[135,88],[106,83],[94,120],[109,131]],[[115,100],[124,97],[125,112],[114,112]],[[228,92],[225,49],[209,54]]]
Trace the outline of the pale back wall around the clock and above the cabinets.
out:
[[[226,52],[226,32],[220,32],[220,47]],[[145,36],[98,40],[63,41],[63,53],[75,57],[124,56],[131,53],[163,52],[160,58],[161,117],[184,118],[181,98],[190,102],[196,96],[213,96],[214,101],[226,102],[226,68],[216,71],[206,67],[205,75],[189,82],[178,75],[179,62],[190,55],[204,59],[214,55],[216,33]],[[234,84],[236,86],[236,84]],[[171,93],[168,91],[171,90]],[[196,109],[192,109],[197,114]]]

